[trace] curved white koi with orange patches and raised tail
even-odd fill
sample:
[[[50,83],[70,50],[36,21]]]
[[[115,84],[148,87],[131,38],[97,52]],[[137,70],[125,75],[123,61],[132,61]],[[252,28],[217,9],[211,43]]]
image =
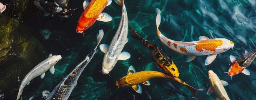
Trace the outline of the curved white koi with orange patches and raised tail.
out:
[[[174,41],[168,39],[158,29],[161,23],[161,10],[156,8],[156,12],[156,29],[160,41],[171,50],[179,52],[183,55],[188,55],[186,62],[194,60],[196,56],[208,55],[205,60],[205,65],[209,65],[216,58],[217,54],[225,52],[234,46],[234,42],[225,38],[209,39],[208,37],[200,36],[199,41],[191,42]]]

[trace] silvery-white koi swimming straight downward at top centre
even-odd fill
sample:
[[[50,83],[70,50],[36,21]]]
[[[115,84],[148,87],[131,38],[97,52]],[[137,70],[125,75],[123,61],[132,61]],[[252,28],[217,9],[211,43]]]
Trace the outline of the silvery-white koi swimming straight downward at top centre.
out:
[[[118,5],[123,5],[122,17],[115,36],[113,37],[110,46],[100,44],[100,50],[105,53],[102,63],[102,73],[109,74],[118,60],[127,60],[131,57],[128,52],[121,52],[126,42],[128,42],[128,18],[124,2],[115,0]]]

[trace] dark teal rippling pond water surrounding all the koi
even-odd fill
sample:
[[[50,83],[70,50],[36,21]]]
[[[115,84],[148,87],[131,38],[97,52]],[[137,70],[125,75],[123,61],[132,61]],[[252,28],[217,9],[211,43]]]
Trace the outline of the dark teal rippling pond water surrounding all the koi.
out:
[[[0,2],[12,3],[8,0],[0,0]],[[93,50],[98,30],[104,31],[101,43],[110,44],[120,23],[120,5],[113,1],[110,6],[106,7],[103,12],[111,15],[113,20],[110,22],[96,21],[90,29],[85,31],[84,37],[75,32],[77,21],[83,12],[83,0],[70,0],[68,6],[73,9],[78,8],[73,18],[44,17],[42,11],[32,7],[31,16],[24,18],[19,24],[31,30],[29,36],[33,37],[29,40],[31,43],[28,45],[28,57],[11,59],[0,64],[0,93],[5,93],[6,100],[16,99],[20,84],[17,77],[20,76],[22,80],[50,53],[62,56],[61,61],[55,65],[55,73],[52,75],[47,71],[43,79],[36,77],[28,86],[25,86],[22,95],[24,100],[34,95],[34,100],[43,100],[42,91],[52,91]],[[231,100],[256,100],[256,62],[252,62],[247,67],[251,72],[249,76],[240,73],[231,80],[231,77],[224,73],[228,71],[231,64],[229,55],[239,57],[244,54],[244,50],[256,49],[255,0],[125,0],[125,6],[130,26],[141,37],[146,38],[172,57],[180,72],[181,80],[195,88],[204,89],[198,92],[201,99],[216,99],[215,94],[206,94],[210,87],[206,72],[213,70],[221,80],[229,83],[225,89]],[[199,36],[227,38],[235,43],[234,50],[218,54],[208,66],[204,65],[207,56],[199,56],[191,62],[186,62],[185,55],[170,50],[159,41],[156,35],[156,7],[162,11],[159,28],[166,37],[177,41],[196,41],[199,40]],[[6,12],[0,16],[8,16]],[[20,30],[22,29],[21,27]],[[44,29],[52,33],[48,40],[44,40],[40,34],[40,30]],[[129,42],[123,51],[129,52],[131,58],[118,61],[109,77],[99,72],[104,56],[99,50],[85,67],[69,100],[193,100],[185,86],[166,79],[151,79],[150,86],[141,85],[142,94],[138,94],[131,87],[118,89],[115,86],[115,81],[127,74],[130,65],[133,65],[136,71],[155,70],[165,73],[156,67],[147,48],[130,36],[128,34]],[[18,70],[19,68],[21,70]]]

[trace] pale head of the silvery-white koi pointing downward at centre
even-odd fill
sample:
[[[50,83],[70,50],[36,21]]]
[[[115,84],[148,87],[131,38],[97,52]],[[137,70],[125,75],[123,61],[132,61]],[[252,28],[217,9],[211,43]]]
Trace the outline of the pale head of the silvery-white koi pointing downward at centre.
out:
[[[115,66],[117,59],[115,57],[104,57],[102,62],[102,73],[108,74]]]

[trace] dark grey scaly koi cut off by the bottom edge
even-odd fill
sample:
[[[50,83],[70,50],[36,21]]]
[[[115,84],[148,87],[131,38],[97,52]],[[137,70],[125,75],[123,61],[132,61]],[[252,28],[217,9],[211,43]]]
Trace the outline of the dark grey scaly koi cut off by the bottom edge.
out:
[[[70,96],[72,90],[75,88],[75,85],[77,84],[78,78],[80,77],[81,73],[88,65],[90,60],[93,58],[96,49],[101,39],[103,38],[103,35],[103,30],[99,30],[99,33],[97,34],[97,45],[94,48],[94,50],[91,51],[85,57],[85,59],[75,67],[75,69],[72,72],[70,72],[65,78],[63,78],[62,81],[60,81],[60,83],[53,89],[53,91],[50,93],[46,100],[68,100],[68,97]]]

